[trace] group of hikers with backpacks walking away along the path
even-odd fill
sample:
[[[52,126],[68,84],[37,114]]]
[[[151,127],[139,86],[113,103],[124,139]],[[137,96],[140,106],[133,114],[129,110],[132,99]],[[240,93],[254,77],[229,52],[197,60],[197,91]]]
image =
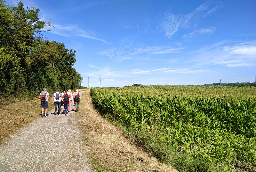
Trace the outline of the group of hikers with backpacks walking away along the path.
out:
[[[70,112],[70,105],[71,101],[74,100],[74,105],[76,106],[76,112],[79,111],[79,104],[80,104],[80,98],[81,94],[79,94],[79,90],[74,90],[74,93],[72,95],[72,91],[69,89],[68,92],[56,90],[55,93],[52,95],[52,104],[54,104],[55,107],[55,115],[60,115],[60,107],[64,105],[65,109],[65,115],[67,115]],[[48,104],[50,103],[50,96],[49,93],[46,91],[46,88],[43,89],[43,91],[40,93],[39,99],[41,99],[41,106],[42,106],[42,118],[47,117],[47,109]],[[58,107],[58,112],[57,112]]]

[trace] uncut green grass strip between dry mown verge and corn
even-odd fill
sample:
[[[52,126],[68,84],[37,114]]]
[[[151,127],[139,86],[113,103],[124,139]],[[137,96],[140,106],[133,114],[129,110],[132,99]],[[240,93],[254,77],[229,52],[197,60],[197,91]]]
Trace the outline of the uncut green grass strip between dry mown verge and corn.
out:
[[[107,116],[108,118],[108,116]],[[134,144],[150,154],[157,160],[176,168],[179,171],[189,172],[212,172],[214,168],[206,164],[203,160],[198,160],[188,154],[180,153],[171,145],[166,144],[166,138],[158,133],[147,132],[145,129],[133,129],[127,127],[121,121],[115,121],[108,118],[116,127],[120,128],[126,135],[134,140]]]

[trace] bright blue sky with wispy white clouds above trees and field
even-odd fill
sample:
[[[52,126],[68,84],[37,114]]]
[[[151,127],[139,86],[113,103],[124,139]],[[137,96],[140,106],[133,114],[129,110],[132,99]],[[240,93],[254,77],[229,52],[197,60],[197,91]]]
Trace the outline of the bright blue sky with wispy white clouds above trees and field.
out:
[[[11,1],[7,1],[10,3]],[[255,0],[25,0],[76,50],[83,86],[254,82]]]

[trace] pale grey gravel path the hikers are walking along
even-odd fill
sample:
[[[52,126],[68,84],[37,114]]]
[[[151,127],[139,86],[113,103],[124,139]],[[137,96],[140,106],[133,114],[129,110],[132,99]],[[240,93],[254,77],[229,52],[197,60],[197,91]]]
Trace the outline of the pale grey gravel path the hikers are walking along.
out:
[[[49,111],[48,118],[38,118],[6,139],[0,145],[0,171],[93,171],[74,109],[70,106],[67,116]]]

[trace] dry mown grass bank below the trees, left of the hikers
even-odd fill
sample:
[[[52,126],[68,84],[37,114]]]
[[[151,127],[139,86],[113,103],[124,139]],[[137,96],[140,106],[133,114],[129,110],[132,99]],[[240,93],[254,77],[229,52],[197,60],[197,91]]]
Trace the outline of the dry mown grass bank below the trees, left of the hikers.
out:
[[[52,108],[51,104],[48,110]],[[38,117],[41,117],[41,102],[36,98],[16,100],[0,107],[0,143]]]

